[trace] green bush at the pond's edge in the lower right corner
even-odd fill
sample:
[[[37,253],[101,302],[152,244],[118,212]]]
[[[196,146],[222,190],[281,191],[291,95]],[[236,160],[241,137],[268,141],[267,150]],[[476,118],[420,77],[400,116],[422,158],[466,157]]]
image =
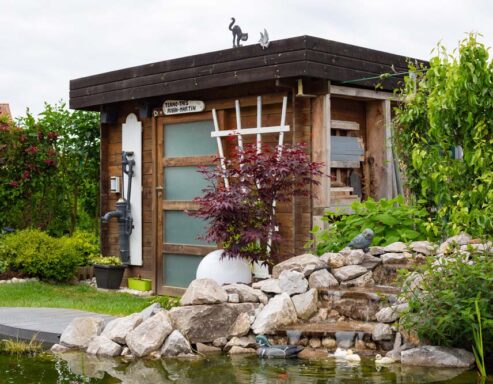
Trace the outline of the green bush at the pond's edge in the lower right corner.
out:
[[[442,258],[439,266],[436,261],[430,258],[419,272],[422,290],[404,288],[410,296],[409,311],[401,324],[432,345],[471,350],[471,324],[479,311],[484,352],[493,353],[493,255],[471,251],[470,256]]]

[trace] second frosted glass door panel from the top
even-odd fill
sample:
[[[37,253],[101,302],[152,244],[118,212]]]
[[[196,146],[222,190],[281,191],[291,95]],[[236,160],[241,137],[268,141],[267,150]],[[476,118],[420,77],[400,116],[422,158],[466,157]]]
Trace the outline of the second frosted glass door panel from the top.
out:
[[[166,167],[164,171],[164,198],[166,200],[193,200],[202,196],[209,182],[197,172],[196,166]]]

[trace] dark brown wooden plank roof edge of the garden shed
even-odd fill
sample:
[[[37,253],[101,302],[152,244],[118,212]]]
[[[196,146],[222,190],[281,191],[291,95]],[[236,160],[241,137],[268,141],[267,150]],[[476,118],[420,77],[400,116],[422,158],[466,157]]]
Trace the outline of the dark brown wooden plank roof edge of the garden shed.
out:
[[[70,107],[98,110],[128,100],[286,78],[315,78],[335,84],[406,72],[407,58],[312,36],[224,49],[125,68],[70,81]],[[376,80],[358,82],[373,88]],[[397,86],[395,77],[381,81]]]

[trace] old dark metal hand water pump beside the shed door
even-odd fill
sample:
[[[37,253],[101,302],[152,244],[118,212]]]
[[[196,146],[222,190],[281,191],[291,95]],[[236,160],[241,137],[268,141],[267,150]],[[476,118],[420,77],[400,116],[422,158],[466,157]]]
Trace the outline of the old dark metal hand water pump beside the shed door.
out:
[[[135,160],[133,159],[133,152],[122,152],[122,173],[126,174],[128,177],[127,184],[127,198],[124,197],[124,192],[122,192],[122,197],[116,203],[116,210],[107,212],[102,218],[103,223],[107,223],[113,217],[118,220],[118,232],[119,232],[119,243],[120,243],[120,258],[124,265],[130,264],[130,235],[133,229],[133,218],[132,209],[130,206],[130,196],[132,193],[132,177],[133,168],[135,166]]]

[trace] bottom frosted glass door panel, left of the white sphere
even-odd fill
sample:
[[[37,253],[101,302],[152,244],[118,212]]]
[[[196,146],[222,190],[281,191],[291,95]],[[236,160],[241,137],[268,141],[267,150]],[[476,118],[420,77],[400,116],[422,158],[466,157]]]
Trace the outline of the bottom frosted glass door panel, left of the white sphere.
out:
[[[192,280],[195,280],[201,260],[202,256],[166,254],[164,256],[165,284],[186,288]]]

